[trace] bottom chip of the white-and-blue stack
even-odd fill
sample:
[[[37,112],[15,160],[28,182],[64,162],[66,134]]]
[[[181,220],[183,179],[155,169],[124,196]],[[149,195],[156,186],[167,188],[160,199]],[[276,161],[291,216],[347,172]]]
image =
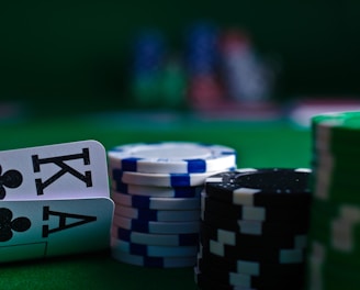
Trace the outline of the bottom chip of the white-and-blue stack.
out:
[[[142,255],[132,255],[119,248],[111,249],[113,259],[149,268],[182,268],[193,267],[196,264],[195,257],[146,257]]]

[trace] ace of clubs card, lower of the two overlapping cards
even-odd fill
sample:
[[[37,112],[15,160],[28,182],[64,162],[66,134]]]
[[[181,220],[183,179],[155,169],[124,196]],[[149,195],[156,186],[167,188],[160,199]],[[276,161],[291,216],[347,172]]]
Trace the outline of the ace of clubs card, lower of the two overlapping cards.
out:
[[[110,247],[108,198],[0,202],[0,263]]]

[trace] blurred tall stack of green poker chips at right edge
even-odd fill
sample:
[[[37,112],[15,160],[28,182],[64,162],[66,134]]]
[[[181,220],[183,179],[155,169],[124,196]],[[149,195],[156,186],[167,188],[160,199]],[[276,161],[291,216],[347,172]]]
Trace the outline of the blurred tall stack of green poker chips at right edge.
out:
[[[308,289],[360,287],[360,112],[312,119]]]

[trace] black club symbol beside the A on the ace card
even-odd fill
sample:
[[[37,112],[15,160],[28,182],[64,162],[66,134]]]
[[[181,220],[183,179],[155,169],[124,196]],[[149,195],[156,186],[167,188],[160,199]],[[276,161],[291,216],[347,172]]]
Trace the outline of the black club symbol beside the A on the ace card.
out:
[[[13,231],[25,232],[30,228],[31,221],[25,216],[13,219],[12,211],[0,208],[0,242],[7,242],[13,236]]]

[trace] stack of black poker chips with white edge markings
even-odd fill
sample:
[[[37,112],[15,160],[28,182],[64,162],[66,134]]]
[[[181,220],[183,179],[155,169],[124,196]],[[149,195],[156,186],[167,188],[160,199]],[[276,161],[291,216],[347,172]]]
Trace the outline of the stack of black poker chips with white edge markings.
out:
[[[205,180],[201,289],[303,289],[310,169],[238,169]]]

